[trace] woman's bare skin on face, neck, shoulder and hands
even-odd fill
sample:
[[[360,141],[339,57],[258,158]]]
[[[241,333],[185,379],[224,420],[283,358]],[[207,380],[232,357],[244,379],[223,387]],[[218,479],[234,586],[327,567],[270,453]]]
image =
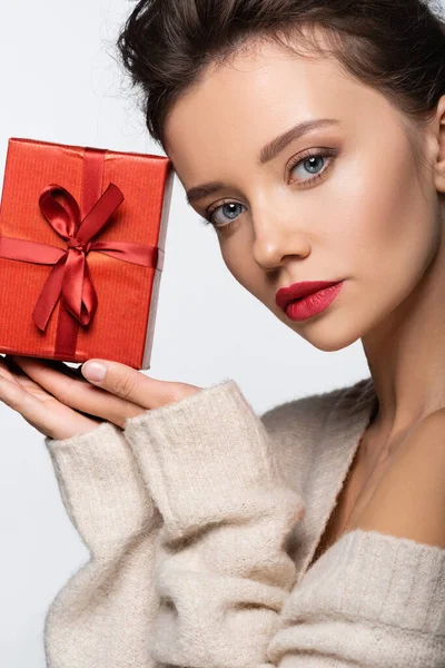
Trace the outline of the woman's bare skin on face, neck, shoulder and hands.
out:
[[[312,130],[258,165],[265,144],[317,118],[339,124]],[[186,190],[227,184],[194,207],[202,216],[219,207],[218,240],[234,277],[317,348],[363,343],[379,411],[362,442],[356,485],[366,493],[350,527],[445,548],[445,96],[419,137],[425,164],[413,150],[414,131],[333,58],[258,43],[230,65],[209,67],[177,100],[165,136]],[[314,174],[304,160],[322,147],[336,157],[318,160]],[[323,177],[308,184],[317,171]],[[221,209],[230,203],[238,206]],[[308,279],[345,284],[327,311],[295,323],[276,306],[276,292]],[[110,361],[102,361],[101,382],[68,379],[67,367],[48,361],[13,361],[18,366],[0,365],[1,401],[53,439],[102,420],[125,428],[146,410],[201,390]]]

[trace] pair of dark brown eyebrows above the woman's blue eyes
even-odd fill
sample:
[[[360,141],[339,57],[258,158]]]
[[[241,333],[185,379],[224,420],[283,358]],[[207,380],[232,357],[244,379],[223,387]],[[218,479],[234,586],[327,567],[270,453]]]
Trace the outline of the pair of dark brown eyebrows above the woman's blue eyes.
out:
[[[335,118],[317,118],[314,120],[305,120],[297,124],[289,130],[286,130],[261,148],[257,159],[257,165],[263,166],[276,158],[291,141],[299,139],[307,132],[315,130],[319,127],[339,125],[339,120]],[[228,188],[229,186],[224,181],[209,181],[208,184],[201,184],[190,188],[186,193],[188,204],[192,204],[198,199],[214,195],[218,190]]]

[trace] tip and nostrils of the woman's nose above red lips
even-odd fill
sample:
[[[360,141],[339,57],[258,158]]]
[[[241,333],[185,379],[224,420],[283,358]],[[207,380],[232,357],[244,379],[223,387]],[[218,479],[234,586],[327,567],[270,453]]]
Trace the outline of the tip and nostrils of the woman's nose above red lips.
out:
[[[271,271],[285,264],[286,258],[305,258],[310,243],[295,212],[283,215],[253,212],[255,262],[263,269]]]

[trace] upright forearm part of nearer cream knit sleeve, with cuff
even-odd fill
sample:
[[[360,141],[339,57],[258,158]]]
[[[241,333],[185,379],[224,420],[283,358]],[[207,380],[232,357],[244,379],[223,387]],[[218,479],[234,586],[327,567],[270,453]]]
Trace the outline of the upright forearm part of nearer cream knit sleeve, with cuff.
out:
[[[305,507],[284,484],[261,420],[229,380],[128,420],[125,435],[164,518],[152,659],[269,665],[296,578],[286,540]]]

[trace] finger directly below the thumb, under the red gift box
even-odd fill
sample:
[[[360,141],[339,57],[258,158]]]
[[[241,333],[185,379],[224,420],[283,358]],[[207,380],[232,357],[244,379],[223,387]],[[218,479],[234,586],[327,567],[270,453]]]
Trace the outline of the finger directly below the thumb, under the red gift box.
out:
[[[43,363],[19,355],[14,355],[13,358],[33,381],[60,403],[83,414],[101,418],[123,428],[126,420],[144,412],[141,406],[95,387],[83,376],[70,377],[59,373],[52,361]],[[47,362],[51,363],[47,364]]]

